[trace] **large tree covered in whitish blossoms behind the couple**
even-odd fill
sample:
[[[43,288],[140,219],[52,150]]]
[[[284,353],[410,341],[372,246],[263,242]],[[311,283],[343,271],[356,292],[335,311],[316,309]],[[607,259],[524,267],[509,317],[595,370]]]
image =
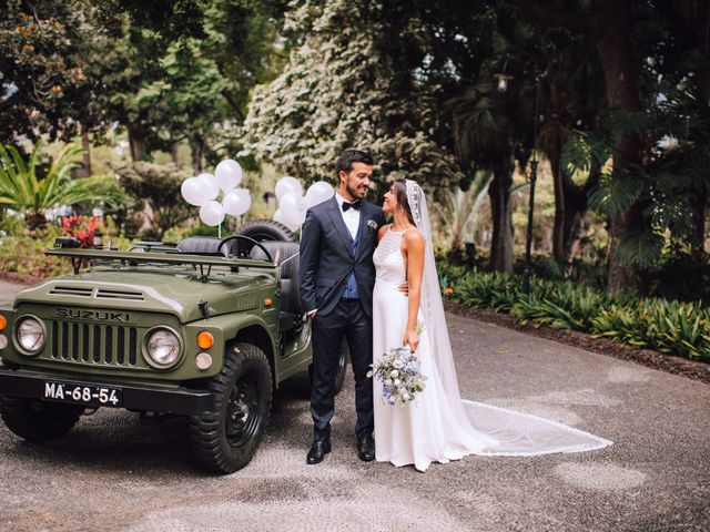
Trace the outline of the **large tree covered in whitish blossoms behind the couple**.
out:
[[[243,155],[271,161],[306,183],[333,181],[346,147],[375,156],[375,181],[402,175],[425,186],[462,173],[433,135],[430,88],[412,79],[395,90],[395,65],[378,51],[386,39],[377,1],[294,1],[286,29],[304,32],[283,73],[255,90]],[[304,31],[305,29],[305,31]]]

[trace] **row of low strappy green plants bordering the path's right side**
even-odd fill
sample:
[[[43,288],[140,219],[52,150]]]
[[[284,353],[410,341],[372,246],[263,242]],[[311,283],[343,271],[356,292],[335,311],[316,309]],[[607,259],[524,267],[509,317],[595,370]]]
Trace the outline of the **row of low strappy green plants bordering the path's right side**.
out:
[[[443,265],[442,284],[467,306],[511,314],[521,323],[589,332],[635,347],[710,361],[710,309],[701,303],[610,295],[572,282],[521,278]]]

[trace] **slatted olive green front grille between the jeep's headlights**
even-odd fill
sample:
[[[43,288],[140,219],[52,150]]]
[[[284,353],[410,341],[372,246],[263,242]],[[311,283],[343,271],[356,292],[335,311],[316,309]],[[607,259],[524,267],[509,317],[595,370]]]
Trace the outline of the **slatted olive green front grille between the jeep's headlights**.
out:
[[[139,357],[136,327],[52,321],[51,358],[95,366],[134,368]]]

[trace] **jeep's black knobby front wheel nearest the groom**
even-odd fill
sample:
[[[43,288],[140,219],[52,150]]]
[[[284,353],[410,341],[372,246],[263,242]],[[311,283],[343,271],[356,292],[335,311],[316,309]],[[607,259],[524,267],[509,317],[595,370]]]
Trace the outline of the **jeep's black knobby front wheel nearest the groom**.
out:
[[[215,409],[190,417],[192,448],[207,471],[233,473],[252,460],[268,424],[266,355],[251,344],[227,346],[222,370],[206,380],[206,388],[215,393]]]

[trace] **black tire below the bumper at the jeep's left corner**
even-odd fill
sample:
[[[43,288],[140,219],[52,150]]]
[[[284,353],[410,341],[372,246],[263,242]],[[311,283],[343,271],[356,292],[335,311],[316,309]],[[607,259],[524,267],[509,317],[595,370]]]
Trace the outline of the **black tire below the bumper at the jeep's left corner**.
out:
[[[0,398],[4,424],[20,438],[42,442],[69,432],[84,411],[78,405],[45,402],[21,397]]]

